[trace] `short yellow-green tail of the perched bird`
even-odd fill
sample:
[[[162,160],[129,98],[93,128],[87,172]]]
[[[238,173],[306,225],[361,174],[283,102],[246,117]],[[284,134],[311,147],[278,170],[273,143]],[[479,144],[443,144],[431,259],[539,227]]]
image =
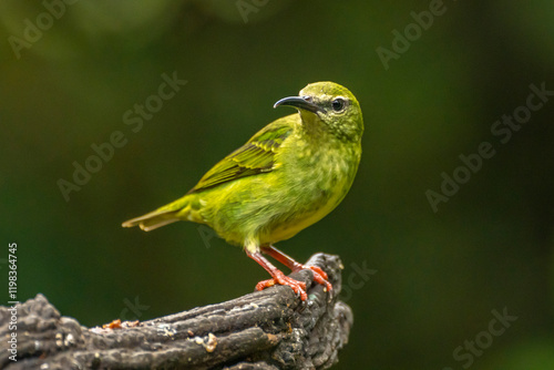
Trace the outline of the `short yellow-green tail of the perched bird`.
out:
[[[136,218],[131,218],[122,224],[123,227],[140,226],[143,230],[150,232],[167,224],[175,223],[181,219],[203,223],[198,214],[199,202],[195,199],[195,195],[185,195],[181,199],[170,203],[151,213]]]

